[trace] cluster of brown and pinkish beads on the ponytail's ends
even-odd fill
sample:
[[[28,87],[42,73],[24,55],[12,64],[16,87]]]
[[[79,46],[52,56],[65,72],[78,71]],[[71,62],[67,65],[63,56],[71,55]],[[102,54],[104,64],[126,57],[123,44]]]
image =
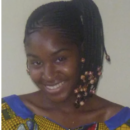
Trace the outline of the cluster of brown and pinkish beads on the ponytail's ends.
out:
[[[81,58],[82,64],[85,63],[85,58]],[[83,66],[83,65],[82,65]],[[76,101],[74,103],[76,108],[83,106],[87,97],[95,94],[97,79],[102,75],[101,67],[98,67],[96,72],[85,71],[80,76],[80,85],[74,90],[76,94]]]

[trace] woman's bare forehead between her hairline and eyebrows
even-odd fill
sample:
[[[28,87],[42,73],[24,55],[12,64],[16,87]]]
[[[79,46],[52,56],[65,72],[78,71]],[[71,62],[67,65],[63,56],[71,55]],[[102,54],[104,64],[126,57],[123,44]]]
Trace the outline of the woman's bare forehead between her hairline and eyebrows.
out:
[[[77,47],[69,39],[61,36],[60,32],[48,28],[29,35],[25,45],[26,52],[43,51],[43,49],[44,51],[55,52],[62,48],[74,50]]]

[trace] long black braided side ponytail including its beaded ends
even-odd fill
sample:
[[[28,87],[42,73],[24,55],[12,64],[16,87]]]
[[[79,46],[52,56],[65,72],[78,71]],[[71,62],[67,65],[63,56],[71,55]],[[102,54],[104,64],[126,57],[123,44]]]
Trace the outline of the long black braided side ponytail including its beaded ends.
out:
[[[84,43],[81,71],[81,84],[75,89],[75,106],[84,105],[85,99],[95,93],[101,75],[103,56],[110,61],[103,36],[103,25],[99,10],[92,0],[73,0],[82,18]]]

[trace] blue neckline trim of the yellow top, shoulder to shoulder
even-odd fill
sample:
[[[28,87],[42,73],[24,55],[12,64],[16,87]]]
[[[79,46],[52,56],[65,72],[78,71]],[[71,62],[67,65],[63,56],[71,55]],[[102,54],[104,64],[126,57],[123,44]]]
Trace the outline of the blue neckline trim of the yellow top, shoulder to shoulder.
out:
[[[33,118],[36,115],[24,104],[24,102],[17,95],[11,95],[11,96],[5,97],[3,99],[7,102],[7,104],[10,106],[10,108],[16,113],[16,115],[20,116],[23,119],[26,119],[29,117]],[[114,116],[112,116],[111,118],[109,118],[105,122],[92,122],[89,124],[78,126],[76,128],[85,127],[85,126],[87,127],[87,126],[91,126],[91,125],[97,124],[97,123],[105,123],[109,128],[109,126],[111,125],[110,122],[114,121],[114,119],[118,119],[120,114],[122,114],[126,109],[129,109],[129,108],[123,107],[118,113],[116,113]],[[56,121],[54,121],[46,116],[41,116],[41,117],[46,118],[47,120],[59,125],[60,127],[66,129],[66,130],[69,130],[69,128],[62,126],[61,124],[57,123]],[[76,129],[76,128],[72,128],[72,129]]]

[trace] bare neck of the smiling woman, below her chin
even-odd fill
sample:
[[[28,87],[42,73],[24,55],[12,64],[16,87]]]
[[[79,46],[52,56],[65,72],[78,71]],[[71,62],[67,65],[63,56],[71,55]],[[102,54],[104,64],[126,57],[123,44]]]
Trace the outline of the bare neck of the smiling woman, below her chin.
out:
[[[64,111],[64,112],[74,112],[78,110],[83,110],[83,109],[90,109],[93,106],[94,100],[96,96],[93,96],[91,98],[88,98],[85,102],[84,106],[81,106],[80,108],[75,108],[74,102],[76,100],[76,96],[74,93],[70,94],[66,100],[63,102],[53,102],[47,96],[43,94],[43,92],[39,91],[38,96],[39,96],[39,101],[41,104],[41,107],[44,109],[50,109],[50,110],[59,110],[59,111]],[[87,106],[87,107],[86,107]]]

